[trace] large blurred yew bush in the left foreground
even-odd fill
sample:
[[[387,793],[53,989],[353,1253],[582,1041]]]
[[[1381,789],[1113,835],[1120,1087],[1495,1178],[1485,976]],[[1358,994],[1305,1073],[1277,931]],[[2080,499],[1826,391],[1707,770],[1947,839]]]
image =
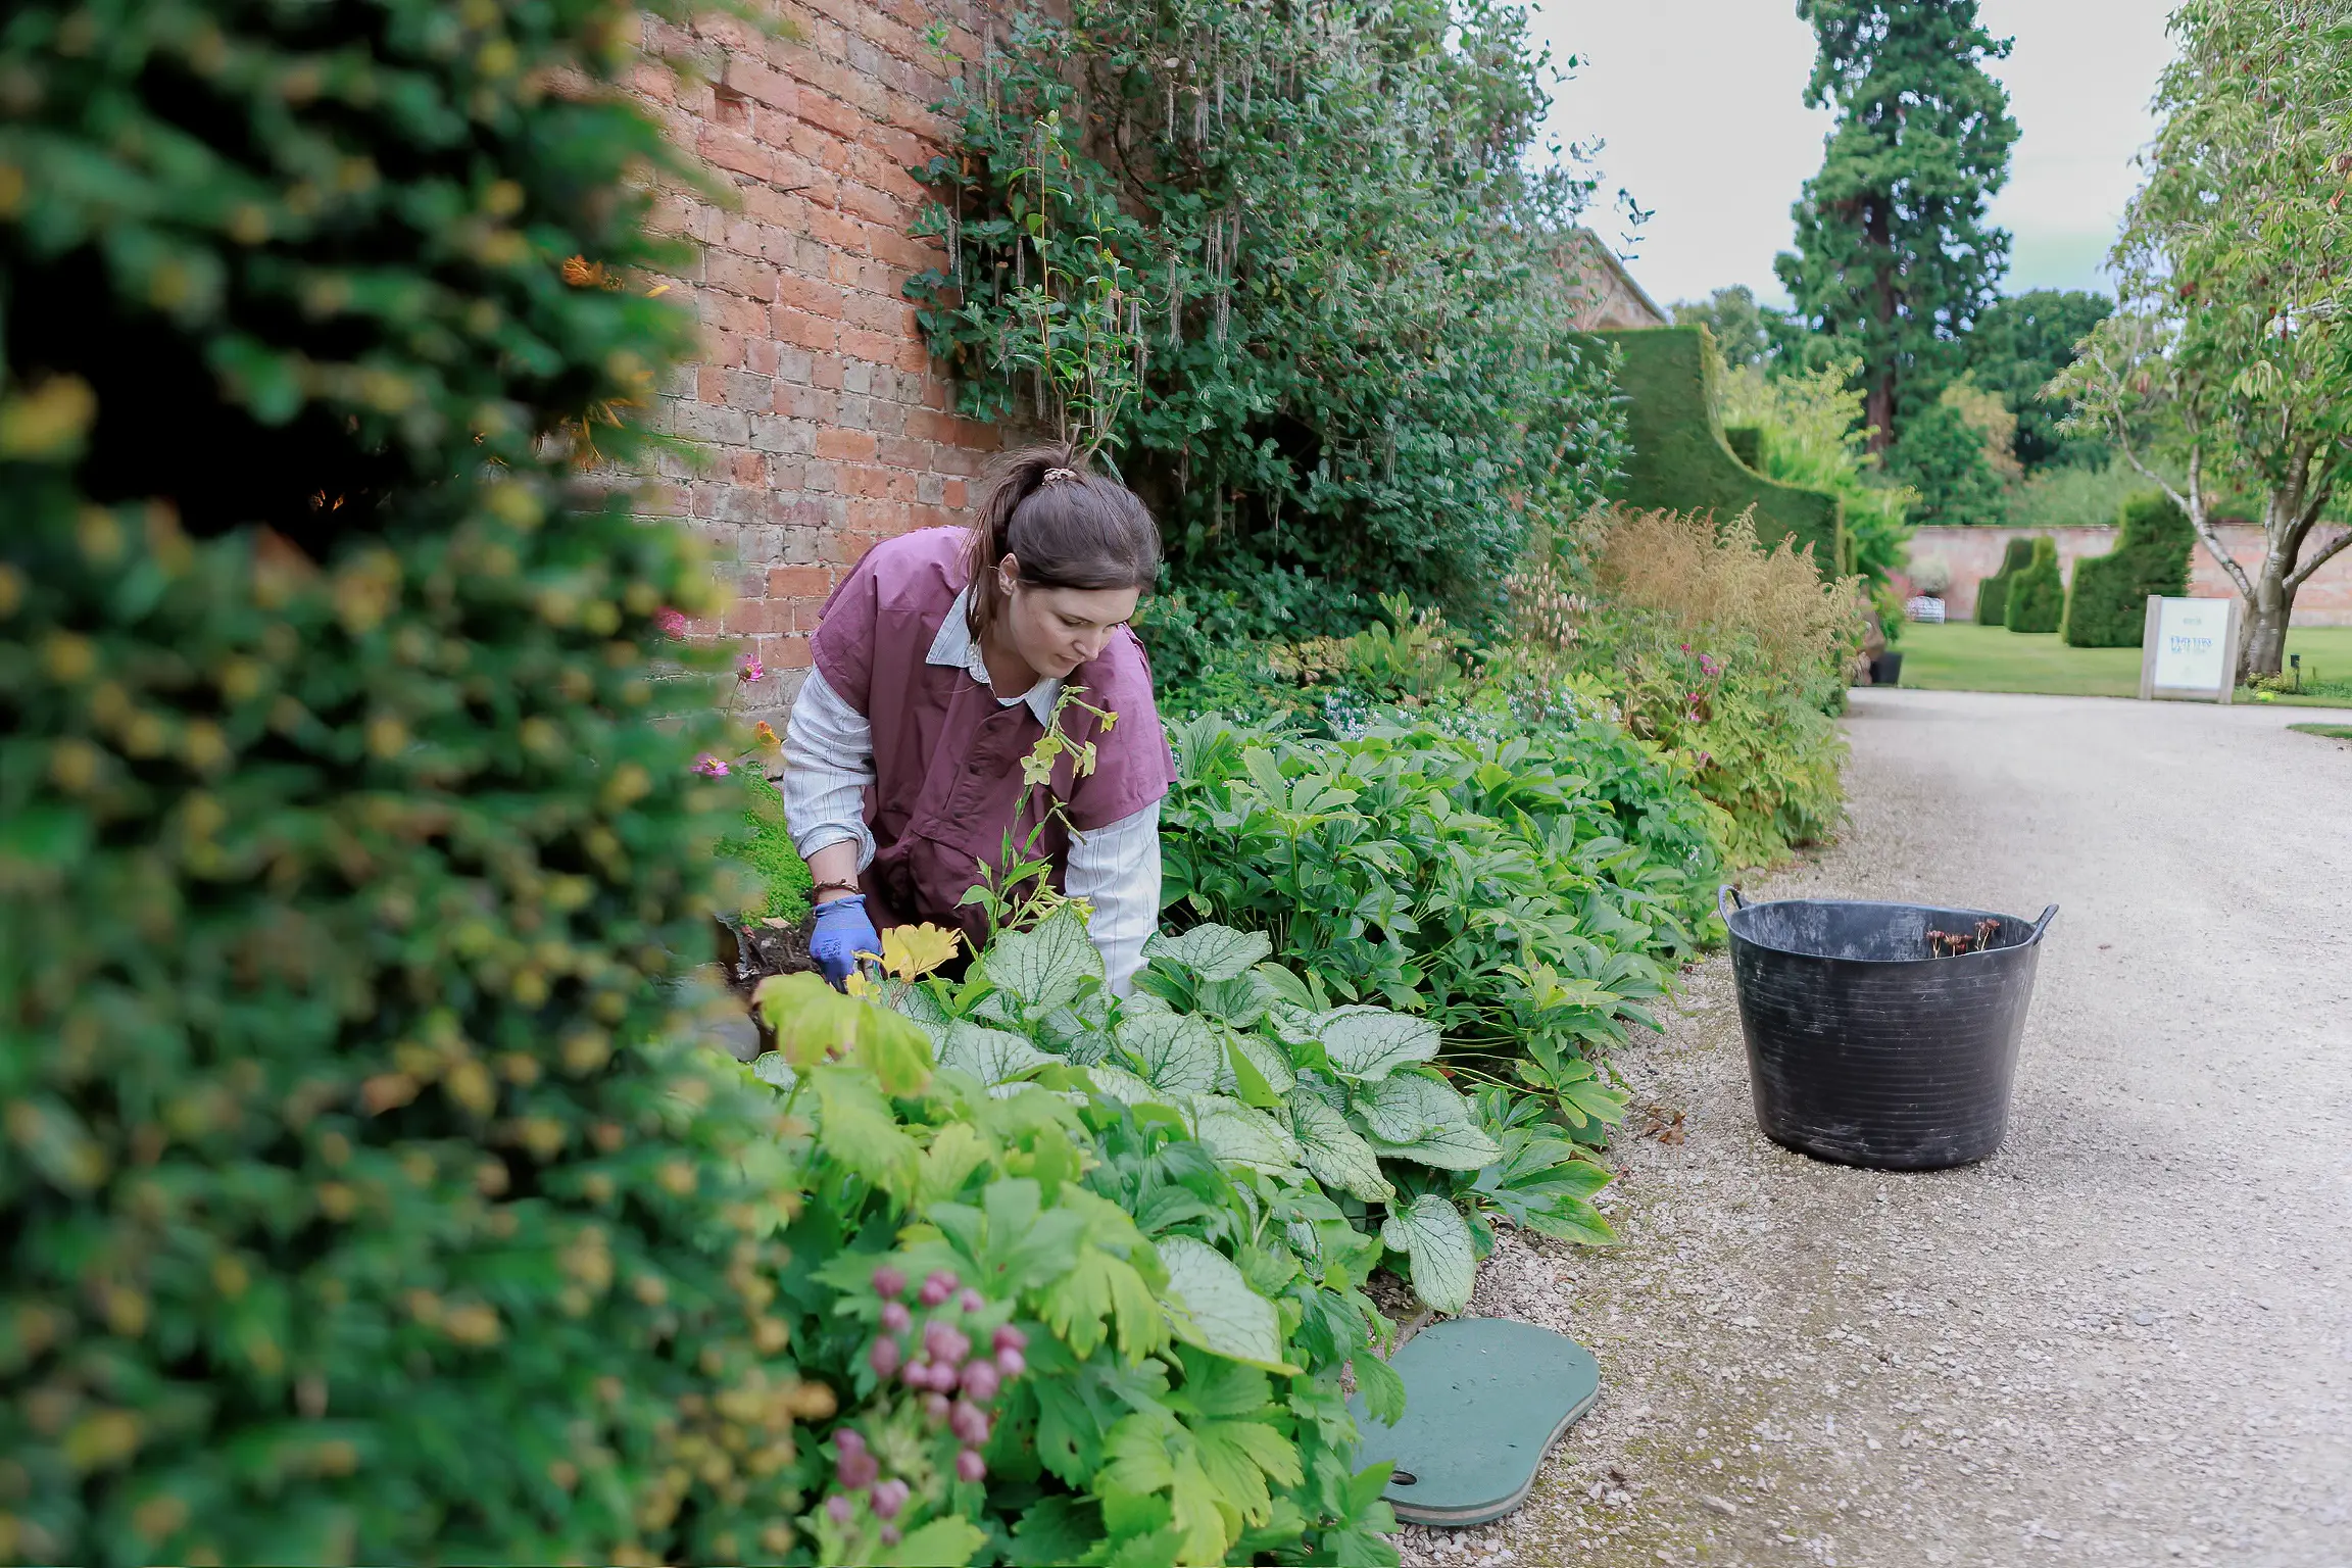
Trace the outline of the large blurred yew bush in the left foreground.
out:
[[[0,1559],[790,1547],[637,31],[0,21]]]

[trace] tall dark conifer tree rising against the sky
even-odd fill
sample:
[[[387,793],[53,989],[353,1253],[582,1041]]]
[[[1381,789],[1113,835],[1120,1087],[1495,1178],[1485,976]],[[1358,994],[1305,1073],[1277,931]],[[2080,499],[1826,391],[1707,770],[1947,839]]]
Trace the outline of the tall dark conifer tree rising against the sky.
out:
[[[1985,73],[2009,40],[1978,26],[1976,0],[1797,0],[1797,14],[1818,40],[1804,101],[1835,108],[1837,129],[1773,270],[1802,320],[1860,355],[1884,449],[1936,400],[1950,343],[2009,268],[2009,230],[1985,223],[2018,139]]]

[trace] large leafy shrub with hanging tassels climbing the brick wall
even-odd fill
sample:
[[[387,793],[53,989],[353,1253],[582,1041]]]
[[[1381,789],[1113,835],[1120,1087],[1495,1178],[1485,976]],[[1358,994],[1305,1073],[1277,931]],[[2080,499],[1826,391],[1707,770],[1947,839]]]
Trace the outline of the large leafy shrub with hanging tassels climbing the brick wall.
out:
[[[1200,635],[1397,588],[1477,621],[1526,517],[1621,456],[1569,339],[1590,179],[1526,158],[1543,68],[1494,5],[1018,16],[920,169],[948,261],[910,294],[964,411],[1096,442]]]

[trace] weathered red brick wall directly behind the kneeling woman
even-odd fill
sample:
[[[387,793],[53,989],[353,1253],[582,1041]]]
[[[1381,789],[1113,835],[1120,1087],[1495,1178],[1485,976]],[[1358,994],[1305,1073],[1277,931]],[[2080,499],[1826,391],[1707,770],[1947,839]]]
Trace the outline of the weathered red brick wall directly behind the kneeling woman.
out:
[[[748,712],[774,717],[800,689],[807,635],[840,574],[908,529],[962,524],[974,473],[997,444],[948,414],[903,287],[941,254],[908,237],[924,165],[950,127],[929,110],[946,73],[978,59],[976,0],[786,0],[774,35],[729,16],[647,42],[703,61],[703,82],[647,66],[635,87],[734,202],[663,202],[699,240],[680,280],[706,353],[663,388],[661,418],[699,465],[663,461],[649,510],[710,543],[734,607],[696,632],[755,649],[769,679]],[[924,40],[946,24],[943,61]]]

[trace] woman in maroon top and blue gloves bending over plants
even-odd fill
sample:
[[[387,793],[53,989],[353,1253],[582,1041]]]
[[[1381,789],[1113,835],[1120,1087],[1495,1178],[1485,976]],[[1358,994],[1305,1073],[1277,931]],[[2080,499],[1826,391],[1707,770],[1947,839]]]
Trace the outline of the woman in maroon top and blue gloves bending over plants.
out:
[[[882,950],[880,926],[962,926],[978,947],[985,914],[962,900],[1011,846],[1091,905],[1108,983],[1127,987],[1160,919],[1160,799],[1176,780],[1127,630],[1157,571],[1160,531],[1131,491],[1068,447],[1030,447],[971,529],[889,538],[842,578],[783,741],[786,823],[816,882],[809,957],[828,980]],[[1084,703],[1063,703],[1065,686]],[[1028,785],[1021,762],[1054,722],[1070,748]],[[1080,776],[1087,743],[1096,766]]]

